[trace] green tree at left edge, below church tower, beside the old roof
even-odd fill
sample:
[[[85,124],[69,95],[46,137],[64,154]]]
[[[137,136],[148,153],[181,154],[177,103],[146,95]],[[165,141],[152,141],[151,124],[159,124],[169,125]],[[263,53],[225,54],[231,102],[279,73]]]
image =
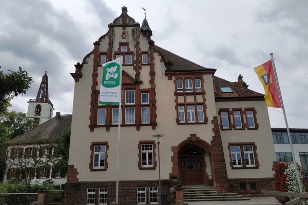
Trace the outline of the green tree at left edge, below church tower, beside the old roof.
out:
[[[33,128],[33,120],[23,112],[0,113],[0,144],[8,142]]]

